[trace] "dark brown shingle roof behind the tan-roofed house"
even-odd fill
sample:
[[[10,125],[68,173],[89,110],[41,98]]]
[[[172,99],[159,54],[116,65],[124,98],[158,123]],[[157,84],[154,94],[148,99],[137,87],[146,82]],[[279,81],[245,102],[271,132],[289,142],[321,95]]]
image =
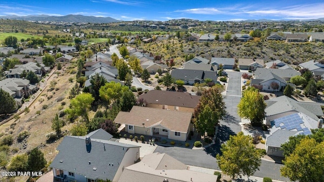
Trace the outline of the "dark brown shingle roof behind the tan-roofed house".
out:
[[[200,96],[191,95],[186,92],[151,90],[146,94],[140,95],[138,98],[145,99],[147,103],[195,108]]]

